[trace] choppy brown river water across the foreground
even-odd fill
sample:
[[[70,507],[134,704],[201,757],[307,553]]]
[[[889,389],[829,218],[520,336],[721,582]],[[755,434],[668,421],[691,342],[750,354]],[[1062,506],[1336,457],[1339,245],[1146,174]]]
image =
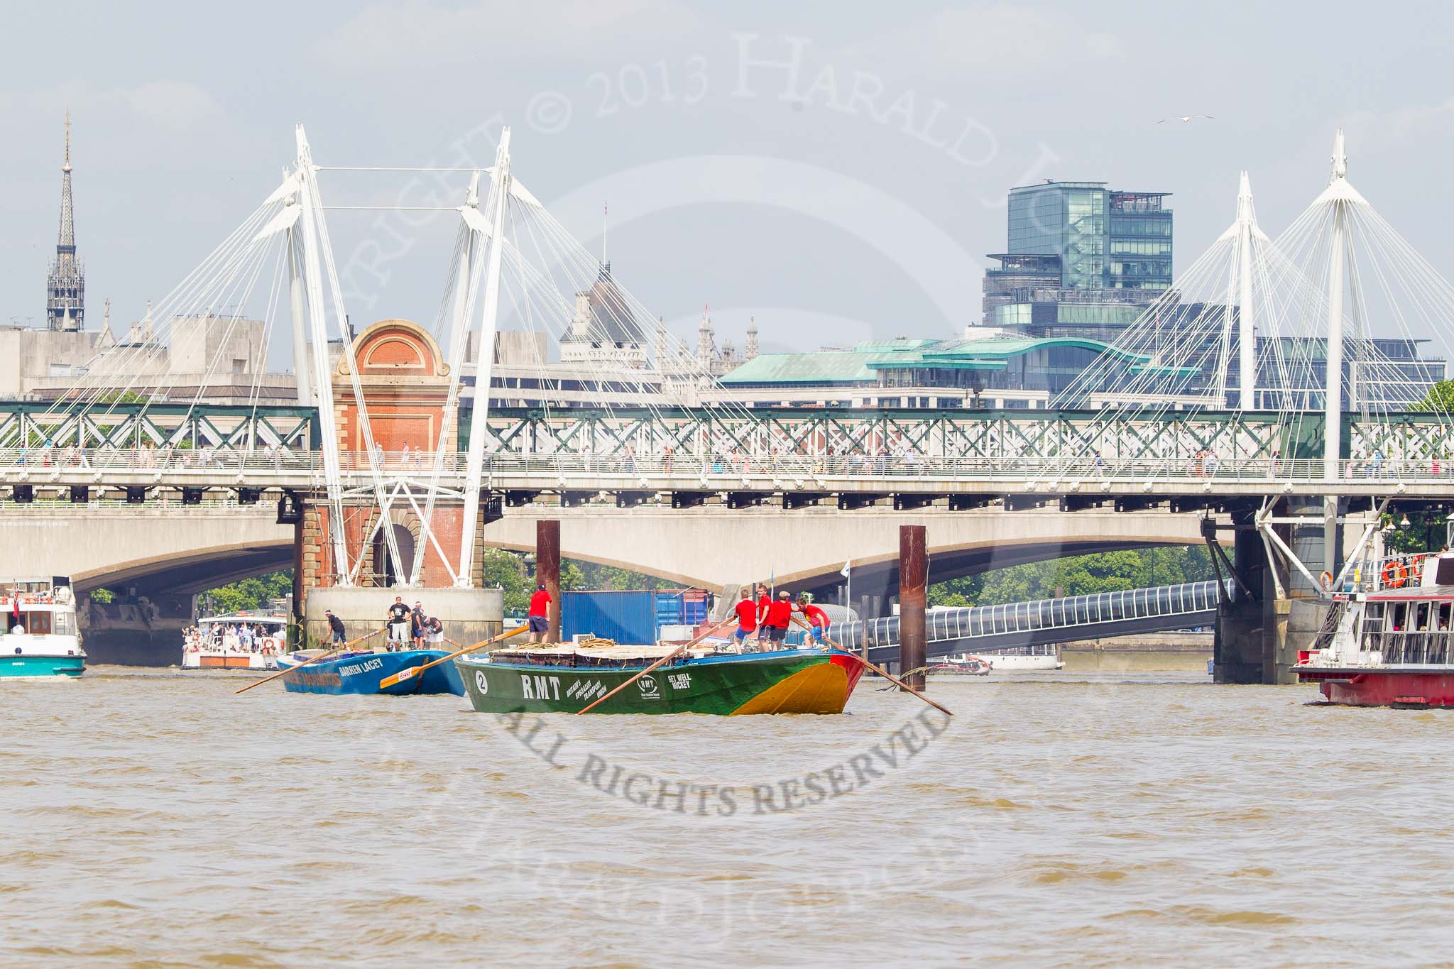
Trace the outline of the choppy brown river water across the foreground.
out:
[[[0,693],[3,965],[1410,965],[1454,712],[1192,674],[843,716],[478,715],[246,673]]]

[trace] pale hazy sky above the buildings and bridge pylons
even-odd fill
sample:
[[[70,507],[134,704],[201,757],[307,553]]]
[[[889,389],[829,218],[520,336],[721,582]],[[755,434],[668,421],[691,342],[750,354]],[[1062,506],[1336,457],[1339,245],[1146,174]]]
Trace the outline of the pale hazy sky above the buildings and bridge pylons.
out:
[[[15,4],[0,321],[44,318],[67,108],[90,325],[109,296],[118,331],[275,187],[295,122],[320,164],[388,166],[489,164],[503,119],[516,177],[592,248],[609,199],[616,277],[678,334],[710,302],[718,338],[742,346],[756,315],[763,350],[977,321],[1005,192],[1045,177],[1172,192],[1179,269],[1232,221],[1245,167],[1275,235],[1325,185],[1336,125],[1354,185],[1442,269],[1451,20],[1365,3]],[[1194,112],[1216,119],[1156,123]],[[330,203],[432,190],[334,177]],[[429,323],[455,222],[375,218],[330,214],[355,324]]]

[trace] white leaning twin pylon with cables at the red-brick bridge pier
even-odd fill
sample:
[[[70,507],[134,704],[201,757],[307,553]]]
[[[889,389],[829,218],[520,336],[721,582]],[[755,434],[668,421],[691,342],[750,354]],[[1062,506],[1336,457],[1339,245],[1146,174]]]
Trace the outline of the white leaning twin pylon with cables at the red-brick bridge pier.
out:
[[[484,458],[490,440],[493,349],[496,333],[502,330],[506,315],[510,323],[529,334],[545,337],[570,334],[577,346],[608,347],[603,353],[590,353],[586,359],[573,360],[574,372],[585,379],[595,379],[598,386],[609,382],[614,386],[624,385],[643,392],[651,388],[660,401],[647,404],[653,411],[659,411],[667,401],[663,395],[664,381],[659,372],[663,356],[678,365],[688,362],[685,366],[678,366],[678,370],[686,373],[682,378],[686,386],[696,388],[702,381],[712,379],[705,370],[694,369],[691,363],[694,357],[686,347],[667,334],[657,318],[611,277],[609,264],[603,257],[598,260],[586,253],[585,247],[513,177],[510,129],[503,128],[491,167],[454,170],[468,174],[468,186],[461,205],[443,209],[458,212],[459,221],[445,286],[445,308],[441,311],[441,327],[446,333],[446,338],[441,343],[448,347],[449,384],[445,418],[435,442],[430,466],[427,472],[422,468],[410,472],[406,468],[390,466],[369,423],[358,362],[353,359],[353,334],[348,325],[349,315],[324,215],[329,208],[356,206],[326,206],[320,173],[395,169],[334,169],[316,164],[301,125],[297,128],[297,145],[298,155],[291,171],[285,173],[282,185],[265,200],[260,215],[254,216],[260,228],[250,235],[244,254],[250,257],[254,248],[282,240],[285,259],[279,266],[286,269],[285,302],[291,312],[294,365],[300,375],[298,400],[302,404],[316,402],[320,414],[330,514],[329,543],[334,559],[334,581],[339,584],[352,585],[359,581],[366,551],[375,540],[387,548],[387,555],[397,568],[395,574],[406,587],[422,581],[429,549],[433,549],[443,564],[454,585],[471,584],[477,545],[474,523],[480,514]],[[489,177],[483,199],[481,176]],[[641,349],[648,343],[647,331],[654,331],[657,369],[648,366],[646,352]],[[353,453],[349,458],[366,462],[369,472],[366,487],[345,484],[356,482],[356,475],[343,474],[345,455],[340,453],[334,417],[337,401],[333,392],[330,338],[339,340],[343,347],[345,368],[350,381],[349,392],[366,452],[366,456]],[[464,372],[470,362],[471,346],[475,347],[474,404],[468,417],[468,447],[464,455],[461,484],[461,475],[449,453],[449,434],[458,430],[462,414]],[[616,347],[616,352],[609,347]],[[638,356],[631,357],[632,353]],[[595,360],[593,356],[603,359]],[[539,363],[542,370],[548,366],[544,359]],[[615,369],[609,370],[609,376],[603,376],[608,368]],[[743,411],[736,405],[727,405],[724,410]],[[362,533],[358,546],[350,548],[345,523],[349,522],[349,514],[359,514],[359,498],[372,498],[377,514]],[[448,501],[452,510],[462,506],[458,548],[445,548],[436,532],[435,513],[441,500]],[[406,516],[411,514],[419,523],[420,536],[409,562],[400,556],[393,527],[395,510]]]

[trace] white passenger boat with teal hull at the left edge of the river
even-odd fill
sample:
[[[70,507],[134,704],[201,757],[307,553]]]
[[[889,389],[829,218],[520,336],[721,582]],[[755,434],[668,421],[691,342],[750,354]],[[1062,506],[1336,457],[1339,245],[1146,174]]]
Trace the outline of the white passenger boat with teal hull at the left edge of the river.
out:
[[[51,680],[86,671],[71,580],[22,578],[0,596],[0,678]]]

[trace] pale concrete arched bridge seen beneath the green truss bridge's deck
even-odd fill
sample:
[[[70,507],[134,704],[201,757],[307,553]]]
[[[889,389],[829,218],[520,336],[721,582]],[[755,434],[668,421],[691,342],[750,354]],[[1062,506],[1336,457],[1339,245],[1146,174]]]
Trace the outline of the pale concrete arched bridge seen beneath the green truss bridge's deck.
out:
[[[561,522],[567,558],[712,590],[771,575],[779,585],[830,594],[842,581],[843,562],[852,561],[855,599],[897,587],[900,524],[926,526],[932,581],[1088,552],[1201,542],[1197,516],[1154,510],[599,506],[510,508],[484,527],[484,542],[532,551],[541,519]],[[167,657],[163,664],[180,661],[179,631],[190,619],[193,594],[288,568],[297,554],[294,526],[276,523],[270,501],[6,504],[0,530],[12,549],[12,575],[70,575],[83,597],[102,587],[126,594],[126,603],[90,604],[81,616],[87,649],[96,661],[111,662],[142,655],[153,662],[157,649]]]

